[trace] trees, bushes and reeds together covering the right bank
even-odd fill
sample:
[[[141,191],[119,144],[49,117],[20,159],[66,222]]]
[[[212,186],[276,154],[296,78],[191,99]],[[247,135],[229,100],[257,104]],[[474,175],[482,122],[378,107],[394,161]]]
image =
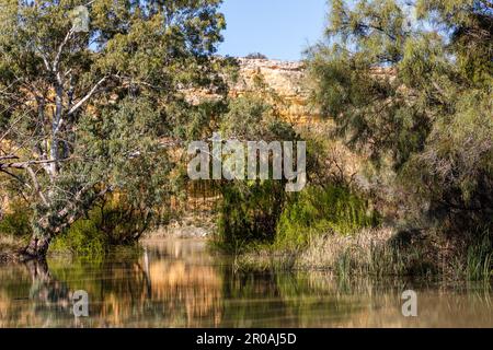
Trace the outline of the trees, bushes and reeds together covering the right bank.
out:
[[[239,269],[491,278],[492,11],[489,1],[331,1],[326,40],[306,65],[312,101],[334,125],[322,143],[302,135],[303,192],[279,198],[264,184],[241,205],[225,197],[219,242],[239,253]],[[347,145],[357,172],[326,138]],[[276,198],[275,210],[251,196]],[[268,233],[231,235],[260,213]]]

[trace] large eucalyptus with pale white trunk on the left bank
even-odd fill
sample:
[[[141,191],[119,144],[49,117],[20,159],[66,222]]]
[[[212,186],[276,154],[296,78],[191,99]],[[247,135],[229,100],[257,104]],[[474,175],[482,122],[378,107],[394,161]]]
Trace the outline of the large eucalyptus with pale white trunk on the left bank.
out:
[[[197,113],[183,92],[225,88],[219,4],[0,0],[0,171],[34,210],[24,256],[110,192],[162,198],[161,141]]]

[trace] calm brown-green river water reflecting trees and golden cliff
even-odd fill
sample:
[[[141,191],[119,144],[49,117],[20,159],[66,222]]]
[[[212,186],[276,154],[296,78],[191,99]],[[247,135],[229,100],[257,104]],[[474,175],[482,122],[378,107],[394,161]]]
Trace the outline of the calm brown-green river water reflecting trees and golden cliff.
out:
[[[492,285],[233,273],[205,241],[161,240],[104,260],[0,266],[0,327],[493,327]],[[403,317],[404,290],[419,316]],[[89,294],[89,317],[71,295]]]

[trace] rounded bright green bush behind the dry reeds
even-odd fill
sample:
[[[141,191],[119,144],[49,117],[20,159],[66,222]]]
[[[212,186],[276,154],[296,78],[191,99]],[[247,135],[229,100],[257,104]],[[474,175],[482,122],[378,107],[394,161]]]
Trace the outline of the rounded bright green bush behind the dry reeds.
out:
[[[309,187],[295,195],[284,209],[277,225],[276,244],[300,247],[314,235],[329,232],[348,235],[378,223],[379,217],[369,209],[368,202],[347,187]]]

